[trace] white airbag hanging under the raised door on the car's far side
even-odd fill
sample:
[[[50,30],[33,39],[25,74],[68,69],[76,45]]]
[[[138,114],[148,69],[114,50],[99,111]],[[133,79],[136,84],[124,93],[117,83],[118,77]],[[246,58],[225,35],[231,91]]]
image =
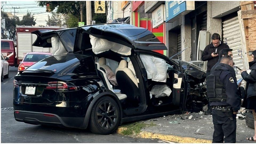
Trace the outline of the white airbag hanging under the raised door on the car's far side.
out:
[[[58,37],[51,38],[51,45],[53,47],[53,55],[65,54],[67,51],[65,50],[64,46],[62,45],[61,41]]]

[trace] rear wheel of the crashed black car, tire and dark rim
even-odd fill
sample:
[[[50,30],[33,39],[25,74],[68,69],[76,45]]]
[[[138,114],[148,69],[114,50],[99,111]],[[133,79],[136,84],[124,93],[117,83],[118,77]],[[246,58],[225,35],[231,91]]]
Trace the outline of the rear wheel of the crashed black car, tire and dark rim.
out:
[[[90,130],[95,134],[110,134],[117,129],[120,121],[120,109],[113,98],[99,98],[90,116]]]

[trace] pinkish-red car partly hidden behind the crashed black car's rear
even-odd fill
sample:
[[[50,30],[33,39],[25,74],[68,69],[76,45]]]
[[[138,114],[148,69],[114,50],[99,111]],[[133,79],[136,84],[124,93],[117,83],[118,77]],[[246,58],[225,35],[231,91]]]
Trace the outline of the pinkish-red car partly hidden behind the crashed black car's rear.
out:
[[[51,55],[53,54],[48,52],[28,52],[23,58],[21,64],[19,64],[18,70],[25,70],[27,67],[30,67],[34,63],[50,57]]]

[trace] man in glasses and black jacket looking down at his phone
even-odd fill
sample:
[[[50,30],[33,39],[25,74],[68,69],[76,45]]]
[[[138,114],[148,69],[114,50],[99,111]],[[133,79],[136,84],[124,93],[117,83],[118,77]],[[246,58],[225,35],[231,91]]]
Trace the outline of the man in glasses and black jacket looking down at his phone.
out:
[[[214,33],[211,36],[212,42],[205,47],[202,53],[202,61],[207,62],[207,70],[206,70],[206,79],[208,75],[210,75],[211,68],[218,62],[219,60],[219,52],[224,48],[229,48],[226,43],[222,43],[221,37],[219,34]],[[205,111],[205,115],[211,114],[211,106],[208,102],[208,110]]]

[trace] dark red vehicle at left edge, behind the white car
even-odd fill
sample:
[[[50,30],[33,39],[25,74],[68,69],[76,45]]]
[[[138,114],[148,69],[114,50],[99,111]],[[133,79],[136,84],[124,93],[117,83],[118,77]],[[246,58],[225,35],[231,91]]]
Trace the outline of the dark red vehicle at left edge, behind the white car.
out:
[[[6,58],[8,57],[9,66],[15,66],[16,60],[16,51],[13,40],[10,39],[1,39],[1,53]]]

